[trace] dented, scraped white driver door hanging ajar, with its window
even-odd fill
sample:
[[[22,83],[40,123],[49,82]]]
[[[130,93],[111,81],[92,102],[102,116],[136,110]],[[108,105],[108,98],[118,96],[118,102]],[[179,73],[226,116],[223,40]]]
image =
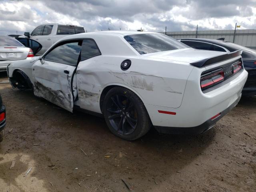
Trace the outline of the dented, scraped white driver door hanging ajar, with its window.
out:
[[[32,66],[34,94],[72,112],[80,50],[80,41],[65,41],[36,61]]]

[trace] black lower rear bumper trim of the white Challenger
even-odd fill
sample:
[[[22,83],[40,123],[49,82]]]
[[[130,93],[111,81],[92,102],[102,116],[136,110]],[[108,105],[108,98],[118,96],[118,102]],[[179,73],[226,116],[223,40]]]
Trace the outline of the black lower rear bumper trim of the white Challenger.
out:
[[[216,122],[218,120],[220,120],[223,116],[225,116],[228,112],[230,112],[230,110],[232,110],[232,108],[234,108],[240,98],[241,98],[242,94],[240,94],[240,96],[237,98],[237,100],[232,103],[228,108],[226,108],[225,110],[223,110],[220,113],[220,116],[218,116],[215,119],[208,119],[206,122],[204,122],[203,124],[199,125],[199,126],[195,126],[195,127],[162,127],[162,126],[155,126],[156,130],[160,133],[164,133],[164,134],[200,134],[200,133],[204,133],[208,130],[210,130],[210,128],[212,128]]]

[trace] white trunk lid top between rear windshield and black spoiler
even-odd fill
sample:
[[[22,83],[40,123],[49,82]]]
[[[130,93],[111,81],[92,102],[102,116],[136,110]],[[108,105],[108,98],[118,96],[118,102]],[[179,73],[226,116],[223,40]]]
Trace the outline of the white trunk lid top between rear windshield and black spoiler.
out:
[[[219,52],[219,51],[198,50],[194,48],[185,48],[185,49],[177,49],[177,50],[156,52],[156,53],[150,53],[150,54],[143,54],[142,56],[147,58],[192,63],[192,62],[200,61],[206,58],[220,56],[223,54],[227,54],[227,53]]]

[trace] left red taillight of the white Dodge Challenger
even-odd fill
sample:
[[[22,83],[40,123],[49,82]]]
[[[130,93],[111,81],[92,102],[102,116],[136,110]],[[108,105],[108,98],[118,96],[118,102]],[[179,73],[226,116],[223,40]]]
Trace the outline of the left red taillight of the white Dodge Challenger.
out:
[[[206,89],[214,84],[220,83],[224,80],[224,71],[222,69],[216,70],[201,76],[201,88]]]

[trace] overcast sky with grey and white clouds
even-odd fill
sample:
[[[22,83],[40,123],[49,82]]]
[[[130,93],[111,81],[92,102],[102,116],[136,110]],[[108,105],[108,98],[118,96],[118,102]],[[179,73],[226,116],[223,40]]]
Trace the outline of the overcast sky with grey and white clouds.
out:
[[[256,0],[0,0],[0,34],[43,23],[98,30],[147,31],[256,28]]]

